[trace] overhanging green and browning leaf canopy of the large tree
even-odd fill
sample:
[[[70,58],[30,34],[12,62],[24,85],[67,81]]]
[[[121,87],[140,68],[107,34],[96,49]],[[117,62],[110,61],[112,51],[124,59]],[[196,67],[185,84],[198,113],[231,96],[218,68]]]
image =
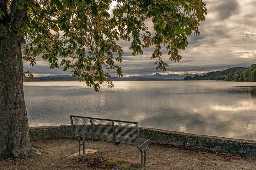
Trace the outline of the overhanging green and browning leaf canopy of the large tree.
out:
[[[18,0],[26,8],[26,26],[15,31],[25,38],[23,59],[31,66],[36,57],[50,63],[50,68],[72,69],[73,77],[98,91],[110,78],[110,70],[123,77],[123,50],[118,40],[131,41],[132,55],[143,55],[143,49],[154,47],[151,59],[158,59],[156,69],[166,71],[161,48],[168,50],[171,61],[180,61],[179,50],[185,50],[187,36],[199,35],[199,22],[205,20],[202,0]],[[116,5],[112,5],[116,4]],[[4,16],[0,10],[0,19]],[[146,27],[153,22],[154,33]],[[139,60],[139,59],[138,59]],[[108,81],[109,87],[113,87]]]

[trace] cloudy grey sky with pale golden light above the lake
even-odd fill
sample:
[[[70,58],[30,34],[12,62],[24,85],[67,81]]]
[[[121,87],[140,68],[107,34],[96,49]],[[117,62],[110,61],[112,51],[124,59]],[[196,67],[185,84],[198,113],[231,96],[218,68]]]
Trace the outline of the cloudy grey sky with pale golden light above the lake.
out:
[[[256,63],[256,0],[205,0],[206,21],[199,26],[199,36],[188,37],[187,49],[181,50],[180,62],[169,61],[167,53],[162,59],[169,64],[166,72],[156,70],[156,60],[150,60],[153,48],[144,49],[143,55],[132,56],[130,42],[121,41],[123,47],[122,67],[124,76],[145,74],[195,74],[231,67],[249,67]],[[153,25],[151,22],[147,24]],[[38,56],[31,67],[24,61],[24,70],[34,76],[71,75],[63,68],[50,69],[48,61]]]

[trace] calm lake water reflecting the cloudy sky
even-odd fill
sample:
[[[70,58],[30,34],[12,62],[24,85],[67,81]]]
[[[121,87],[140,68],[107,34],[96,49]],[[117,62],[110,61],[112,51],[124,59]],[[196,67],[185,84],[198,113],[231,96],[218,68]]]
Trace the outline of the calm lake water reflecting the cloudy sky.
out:
[[[256,82],[24,82],[29,126],[70,124],[70,115],[137,121],[139,126],[256,140]],[[247,87],[245,87],[247,86]]]

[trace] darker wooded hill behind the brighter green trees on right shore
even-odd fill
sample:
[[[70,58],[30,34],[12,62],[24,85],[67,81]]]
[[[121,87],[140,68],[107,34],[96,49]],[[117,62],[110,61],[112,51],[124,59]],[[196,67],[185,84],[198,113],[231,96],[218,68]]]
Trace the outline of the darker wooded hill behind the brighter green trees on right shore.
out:
[[[247,67],[233,67],[221,71],[209,72],[204,75],[187,76],[184,80],[226,80],[229,74],[243,72]]]

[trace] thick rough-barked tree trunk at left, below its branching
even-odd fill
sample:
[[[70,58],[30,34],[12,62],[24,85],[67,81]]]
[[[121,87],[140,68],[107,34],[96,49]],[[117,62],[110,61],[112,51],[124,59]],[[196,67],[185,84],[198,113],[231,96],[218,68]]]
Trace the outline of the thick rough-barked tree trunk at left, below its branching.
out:
[[[39,155],[30,144],[28,132],[20,38],[17,33],[2,28],[4,26],[0,27],[0,154]]]

